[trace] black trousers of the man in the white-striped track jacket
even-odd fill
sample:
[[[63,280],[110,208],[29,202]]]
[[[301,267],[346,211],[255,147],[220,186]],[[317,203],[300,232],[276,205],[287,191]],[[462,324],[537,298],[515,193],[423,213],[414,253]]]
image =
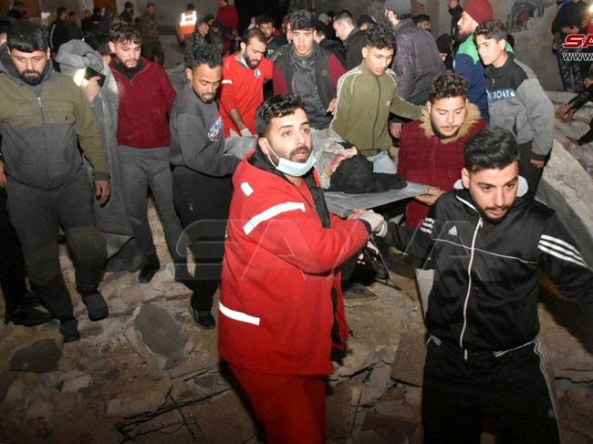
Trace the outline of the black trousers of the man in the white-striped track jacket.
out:
[[[425,444],[478,444],[484,425],[497,442],[560,442],[556,407],[539,342],[496,356],[431,337],[424,367]]]

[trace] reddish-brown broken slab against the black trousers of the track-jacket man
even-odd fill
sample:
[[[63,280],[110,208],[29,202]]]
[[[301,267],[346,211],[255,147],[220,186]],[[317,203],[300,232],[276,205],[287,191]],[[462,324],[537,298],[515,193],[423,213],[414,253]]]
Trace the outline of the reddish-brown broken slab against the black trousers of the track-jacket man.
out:
[[[393,358],[391,377],[421,387],[426,360],[426,342],[423,334],[404,334]]]

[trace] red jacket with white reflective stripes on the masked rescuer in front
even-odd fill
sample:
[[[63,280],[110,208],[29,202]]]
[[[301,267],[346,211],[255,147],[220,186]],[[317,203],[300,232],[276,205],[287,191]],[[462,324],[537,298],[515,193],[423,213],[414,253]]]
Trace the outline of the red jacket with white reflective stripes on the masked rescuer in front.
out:
[[[251,157],[251,156],[249,156]],[[347,327],[338,267],[366,242],[363,222],[330,215],[324,228],[305,181],[294,186],[243,160],[224,248],[218,348],[237,367],[328,375],[336,319]]]

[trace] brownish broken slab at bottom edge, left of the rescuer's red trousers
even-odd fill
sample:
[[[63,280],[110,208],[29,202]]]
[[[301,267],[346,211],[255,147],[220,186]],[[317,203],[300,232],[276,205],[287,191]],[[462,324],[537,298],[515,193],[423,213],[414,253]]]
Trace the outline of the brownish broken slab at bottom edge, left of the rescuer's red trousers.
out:
[[[257,434],[255,421],[244,401],[229,391],[200,409],[194,418],[210,444],[240,444]],[[234,427],[221,427],[233,424]]]

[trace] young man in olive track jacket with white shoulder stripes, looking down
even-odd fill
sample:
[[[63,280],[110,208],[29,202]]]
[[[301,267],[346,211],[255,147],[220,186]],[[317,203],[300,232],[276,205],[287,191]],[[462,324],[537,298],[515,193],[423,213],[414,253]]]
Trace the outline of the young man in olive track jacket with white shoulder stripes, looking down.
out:
[[[338,82],[338,104],[330,129],[348,140],[374,163],[375,172],[396,173],[390,159],[390,112],[420,119],[422,108],[403,100],[395,73],[389,69],[395,37],[389,26],[369,26],[362,63]]]

